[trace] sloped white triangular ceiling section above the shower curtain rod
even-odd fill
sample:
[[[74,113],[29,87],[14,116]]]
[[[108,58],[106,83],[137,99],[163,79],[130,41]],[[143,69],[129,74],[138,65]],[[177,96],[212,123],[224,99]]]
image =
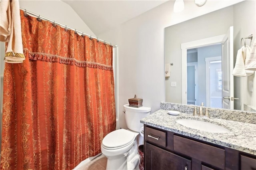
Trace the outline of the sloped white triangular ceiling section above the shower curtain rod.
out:
[[[151,10],[167,0],[62,0],[96,36]]]

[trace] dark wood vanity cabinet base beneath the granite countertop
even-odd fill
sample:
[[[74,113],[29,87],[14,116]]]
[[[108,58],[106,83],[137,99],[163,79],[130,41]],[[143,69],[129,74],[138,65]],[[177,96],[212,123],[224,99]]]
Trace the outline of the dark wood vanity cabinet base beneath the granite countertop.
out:
[[[144,125],[145,170],[256,170],[256,156]]]

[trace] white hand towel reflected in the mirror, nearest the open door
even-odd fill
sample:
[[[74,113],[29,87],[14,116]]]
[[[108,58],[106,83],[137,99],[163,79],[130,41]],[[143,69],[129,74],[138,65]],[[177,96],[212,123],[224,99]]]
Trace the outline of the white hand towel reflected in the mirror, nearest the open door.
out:
[[[246,76],[246,72],[244,69],[244,60],[246,57],[246,55],[244,55],[245,52],[246,52],[246,49],[244,47],[241,47],[240,49],[238,49],[237,55],[236,55],[236,64],[233,69],[232,75],[238,76],[238,77]]]

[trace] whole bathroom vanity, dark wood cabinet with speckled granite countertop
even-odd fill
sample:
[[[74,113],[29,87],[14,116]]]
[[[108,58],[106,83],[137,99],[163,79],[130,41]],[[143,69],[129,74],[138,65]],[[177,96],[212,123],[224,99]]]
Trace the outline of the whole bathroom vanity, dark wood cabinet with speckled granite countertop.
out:
[[[196,119],[227,128],[230,132],[207,132],[177,123]],[[160,109],[144,123],[146,170],[256,170],[256,124],[188,113],[169,115]]]

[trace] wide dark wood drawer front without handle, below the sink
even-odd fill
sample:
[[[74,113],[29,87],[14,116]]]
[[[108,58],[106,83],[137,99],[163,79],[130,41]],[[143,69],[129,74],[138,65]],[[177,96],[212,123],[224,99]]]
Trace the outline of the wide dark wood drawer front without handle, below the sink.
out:
[[[176,135],[173,138],[175,151],[216,166],[217,168],[225,169],[224,149]]]

